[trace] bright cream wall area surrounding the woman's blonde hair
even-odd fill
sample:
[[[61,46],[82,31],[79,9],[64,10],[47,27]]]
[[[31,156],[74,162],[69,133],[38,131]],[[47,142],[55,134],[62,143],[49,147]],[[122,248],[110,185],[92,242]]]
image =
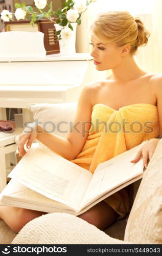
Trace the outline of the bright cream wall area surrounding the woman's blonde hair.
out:
[[[134,3],[134,4],[133,4]],[[132,15],[140,16],[151,36],[146,47],[138,48],[135,60],[138,65],[148,71],[162,73],[162,1],[161,0],[97,0],[89,5],[82,16],[82,24],[77,28],[77,52],[90,52],[90,26],[99,12],[108,10],[127,10]]]

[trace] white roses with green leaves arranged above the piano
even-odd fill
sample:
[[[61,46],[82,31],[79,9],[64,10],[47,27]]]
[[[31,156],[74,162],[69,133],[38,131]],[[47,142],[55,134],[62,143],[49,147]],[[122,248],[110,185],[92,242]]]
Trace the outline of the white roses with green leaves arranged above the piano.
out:
[[[1,18],[5,22],[13,19],[13,15],[17,20],[20,19],[30,19],[31,25],[42,18],[47,18],[51,20],[54,24],[59,24],[62,29],[56,32],[59,35],[58,40],[62,38],[69,37],[72,33],[73,27],[71,23],[81,24],[81,15],[86,11],[89,4],[96,2],[97,0],[66,0],[63,3],[63,8],[53,11],[53,2],[50,4],[47,3],[47,0],[34,0],[34,4],[38,9],[38,12],[33,11],[32,6],[26,6],[26,3],[16,3],[15,13],[11,13],[8,10],[3,10],[1,12]],[[48,7],[48,12],[43,11],[45,7]],[[54,19],[55,18],[55,19]]]

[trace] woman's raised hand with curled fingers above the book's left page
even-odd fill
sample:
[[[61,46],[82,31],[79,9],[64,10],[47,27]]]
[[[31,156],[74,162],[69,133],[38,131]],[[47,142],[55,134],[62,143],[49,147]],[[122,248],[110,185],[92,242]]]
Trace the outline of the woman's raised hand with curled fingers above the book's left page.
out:
[[[27,152],[24,149],[24,145],[27,142],[27,148],[30,148],[33,141],[36,139],[38,133],[37,133],[37,125],[36,123],[29,123],[28,126],[24,129],[24,131],[19,136],[18,141],[18,152],[21,157],[23,157]]]

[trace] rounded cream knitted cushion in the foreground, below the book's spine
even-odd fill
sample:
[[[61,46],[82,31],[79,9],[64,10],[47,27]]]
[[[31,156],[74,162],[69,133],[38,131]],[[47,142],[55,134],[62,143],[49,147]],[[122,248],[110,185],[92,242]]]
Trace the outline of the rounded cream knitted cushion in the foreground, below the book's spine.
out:
[[[12,244],[129,244],[110,238],[88,222],[66,213],[46,214],[27,223]]]

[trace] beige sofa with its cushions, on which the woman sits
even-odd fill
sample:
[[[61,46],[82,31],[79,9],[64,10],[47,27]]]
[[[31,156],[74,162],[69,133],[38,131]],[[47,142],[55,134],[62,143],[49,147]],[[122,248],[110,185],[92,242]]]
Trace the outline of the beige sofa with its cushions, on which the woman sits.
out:
[[[73,120],[76,102],[32,104],[28,109],[45,129],[65,136]],[[66,115],[65,115],[66,113]],[[64,133],[66,131],[66,133]],[[18,234],[0,221],[0,244],[161,244],[162,243],[162,139],[145,170],[142,180],[133,184],[130,214],[104,231],[65,213],[43,215],[26,224]],[[72,225],[73,223],[73,225]]]

